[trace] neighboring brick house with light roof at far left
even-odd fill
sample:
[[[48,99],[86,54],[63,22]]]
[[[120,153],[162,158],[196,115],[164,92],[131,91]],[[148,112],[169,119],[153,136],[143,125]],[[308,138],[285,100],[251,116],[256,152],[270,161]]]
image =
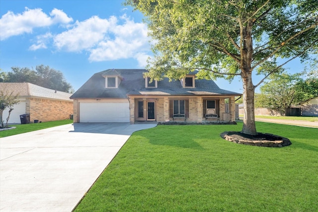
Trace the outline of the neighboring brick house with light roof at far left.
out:
[[[21,114],[30,114],[30,122],[69,119],[73,114],[71,93],[56,91],[28,82],[0,82],[0,89],[19,94],[20,102],[13,106],[9,123],[21,123]],[[3,111],[3,120],[8,116],[8,109]]]

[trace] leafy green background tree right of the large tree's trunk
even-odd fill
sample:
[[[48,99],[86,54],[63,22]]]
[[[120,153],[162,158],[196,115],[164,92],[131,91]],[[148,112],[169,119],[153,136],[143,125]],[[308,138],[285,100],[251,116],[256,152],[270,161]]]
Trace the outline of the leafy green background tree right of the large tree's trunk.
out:
[[[270,80],[260,87],[261,93],[255,95],[255,106],[284,111],[318,96],[318,78],[303,79],[303,75],[287,72],[272,74]]]

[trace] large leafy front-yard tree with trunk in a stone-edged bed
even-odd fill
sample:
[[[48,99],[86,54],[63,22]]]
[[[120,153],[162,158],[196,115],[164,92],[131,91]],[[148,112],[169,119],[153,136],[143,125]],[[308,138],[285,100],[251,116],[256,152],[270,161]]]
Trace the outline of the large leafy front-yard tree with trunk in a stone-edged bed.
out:
[[[271,73],[318,46],[317,0],[126,0],[145,15],[154,39],[147,76],[243,83],[242,133],[256,135],[254,90]],[[315,52],[316,51],[316,52]],[[285,59],[285,60],[283,60]],[[278,63],[281,62],[281,63]],[[263,74],[255,85],[252,74]]]

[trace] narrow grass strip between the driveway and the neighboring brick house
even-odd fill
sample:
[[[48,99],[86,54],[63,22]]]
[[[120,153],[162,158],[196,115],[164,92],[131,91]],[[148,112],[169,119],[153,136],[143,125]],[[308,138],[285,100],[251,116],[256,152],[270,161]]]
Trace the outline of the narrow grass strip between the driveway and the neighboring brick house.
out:
[[[66,125],[73,123],[73,120],[67,119],[67,120],[60,120],[60,121],[53,121],[53,122],[42,122],[42,123],[36,123],[36,124],[26,124],[26,125],[10,125],[9,127],[16,127],[13,130],[5,130],[0,131],[0,138],[7,137],[7,136],[13,136],[21,133],[27,133],[31,131],[36,130],[42,130],[50,127],[56,127],[60,125]]]

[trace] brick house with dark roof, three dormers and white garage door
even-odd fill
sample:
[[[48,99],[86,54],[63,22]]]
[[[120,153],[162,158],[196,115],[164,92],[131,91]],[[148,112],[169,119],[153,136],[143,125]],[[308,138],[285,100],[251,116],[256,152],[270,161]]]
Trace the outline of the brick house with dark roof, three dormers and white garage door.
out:
[[[217,114],[215,121],[235,121],[234,98],[240,93],[220,89],[213,80],[196,79],[194,73],[181,80],[151,81],[144,72],[147,70],[109,69],[93,74],[70,97],[74,99],[74,122],[201,123],[206,114]],[[225,99],[229,99],[227,111]]]

